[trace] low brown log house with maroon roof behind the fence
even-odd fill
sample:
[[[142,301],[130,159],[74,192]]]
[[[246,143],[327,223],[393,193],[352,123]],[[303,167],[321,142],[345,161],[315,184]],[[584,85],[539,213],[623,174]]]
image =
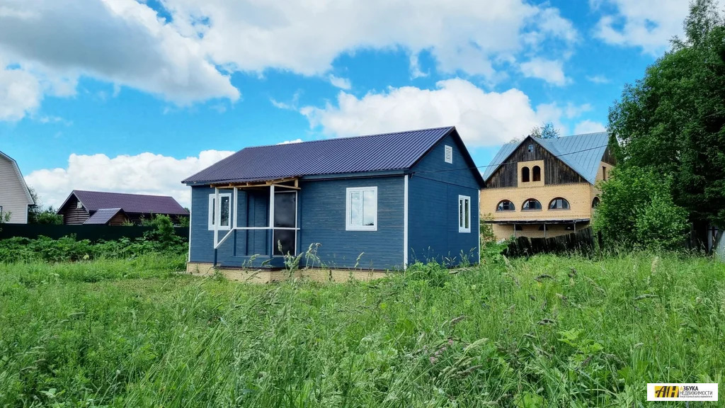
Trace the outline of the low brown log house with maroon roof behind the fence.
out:
[[[139,224],[142,219],[166,215],[174,221],[188,211],[173,197],[73,190],[58,209],[64,224]]]

